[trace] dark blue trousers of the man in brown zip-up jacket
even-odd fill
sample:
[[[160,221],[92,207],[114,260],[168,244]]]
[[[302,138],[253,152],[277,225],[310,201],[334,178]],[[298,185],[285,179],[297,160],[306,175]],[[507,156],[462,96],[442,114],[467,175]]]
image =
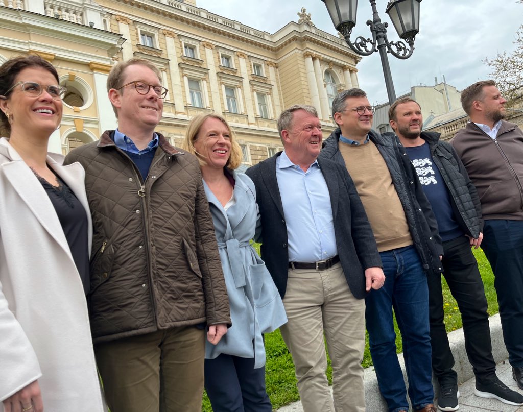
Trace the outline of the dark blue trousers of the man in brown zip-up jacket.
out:
[[[508,361],[523,367],[523,221],[486,220],[481,248],[494,272],[494,287]]]

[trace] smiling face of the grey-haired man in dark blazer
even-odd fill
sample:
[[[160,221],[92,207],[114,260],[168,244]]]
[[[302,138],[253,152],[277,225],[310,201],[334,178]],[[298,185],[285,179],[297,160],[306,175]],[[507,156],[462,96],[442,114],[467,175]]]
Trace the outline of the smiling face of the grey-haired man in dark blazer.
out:
[[[290,130],[281,131],[285,153],[294,164],[308,168],[320,154],[322,124],[320,119],[305,110],[296,110],[292,114]]]

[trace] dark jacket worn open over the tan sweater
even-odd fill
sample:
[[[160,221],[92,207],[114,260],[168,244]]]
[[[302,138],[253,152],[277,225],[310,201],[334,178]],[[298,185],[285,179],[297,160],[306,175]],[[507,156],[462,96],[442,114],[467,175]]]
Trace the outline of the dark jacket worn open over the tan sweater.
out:
[[[338,150],[340,134],[339,128],[332,132],[323,143],[319,157],[333,159],[345,166],[343,156]],[[414,170],[405,151],[400,150],[395,138],[382,136],[372,130],[369,132],[369,138],[378,147],[390,171],[423,268],[427,273],[440,273],[443,270],[439,259],[439,255],[443,255],[441,237],[438,233],[436,218],[419,183],[416,170]]]

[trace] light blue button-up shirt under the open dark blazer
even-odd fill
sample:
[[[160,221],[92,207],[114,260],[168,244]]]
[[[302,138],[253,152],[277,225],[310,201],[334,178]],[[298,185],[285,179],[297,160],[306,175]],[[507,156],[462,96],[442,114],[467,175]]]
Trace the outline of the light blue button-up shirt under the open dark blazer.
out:
[[[285,151],[276,178],[287,224],[290,262],[316,262],[338,254],[331,197],[317,161],[303,171]]]

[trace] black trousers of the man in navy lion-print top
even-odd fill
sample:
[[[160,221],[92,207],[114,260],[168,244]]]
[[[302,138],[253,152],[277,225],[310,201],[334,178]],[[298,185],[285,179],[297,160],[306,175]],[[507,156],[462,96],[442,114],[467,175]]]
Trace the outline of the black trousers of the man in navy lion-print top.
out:
[[[452,296],[458,302],[463,321],[465,350],[476,380],[482,384],[494,382],[497,379],[496,363],[492,357],[487,300],[469,238],[462,236],[444,242],[443,249],[443,276]],[[454,358],[444,324],[441,274],[428,276],[428,293],[432,367],[440,385],[455,384],[457,374],[452,370]]]

